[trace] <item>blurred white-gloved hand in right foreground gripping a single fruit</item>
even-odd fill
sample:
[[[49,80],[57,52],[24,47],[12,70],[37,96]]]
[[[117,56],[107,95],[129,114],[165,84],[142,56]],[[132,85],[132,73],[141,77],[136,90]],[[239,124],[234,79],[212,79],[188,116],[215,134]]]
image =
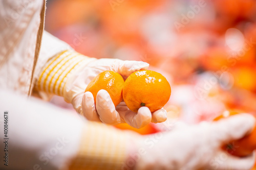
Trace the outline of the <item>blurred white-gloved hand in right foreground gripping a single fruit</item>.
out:
[[[250,169],[255,153],[235,157],[221,149],[222,145],[240,139],[252,131],[254,117],[234,115],[213,123],[175,126],[172,131],[144,136],[138,153],[131,154],[125,166],[136,160],[135,169]],[[239,147],[239,146],[238,146]]]

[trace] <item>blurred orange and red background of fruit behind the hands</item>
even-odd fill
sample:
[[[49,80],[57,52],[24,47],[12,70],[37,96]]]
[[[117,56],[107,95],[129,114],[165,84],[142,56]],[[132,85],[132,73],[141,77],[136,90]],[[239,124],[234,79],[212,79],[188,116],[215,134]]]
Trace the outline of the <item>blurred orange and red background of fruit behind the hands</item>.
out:
[[[89,57],[150,63],[172,87],[168,118],[195,124],[256,113],[255,21],[254,0],[48,0],[45,29]]]

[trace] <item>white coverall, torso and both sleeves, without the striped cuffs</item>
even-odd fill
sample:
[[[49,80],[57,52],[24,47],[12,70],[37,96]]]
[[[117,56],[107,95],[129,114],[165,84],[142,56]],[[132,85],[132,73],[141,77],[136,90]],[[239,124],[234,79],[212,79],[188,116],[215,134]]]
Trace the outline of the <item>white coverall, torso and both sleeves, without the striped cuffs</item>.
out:
[[[82,124],[77,115],[75,117],[62,109],[26,101],[32,88],[32,79],[37,78],[36,75],[39,75],[47,60],[63,50],[71,49],[67,43],[44,32],[37,60],[35,52],[39,50],[38,44],[41,43],[38,42],[40,39],[37,34],[40,23],[44,21],[44,15],[41,15],[45,13],[44,5],[44,0],[0,1],[0,108],[1,115],[4,111],[8,111],[10,115],[8,169],[33,169],[36,164],[42,169],[60,169],[63,162],[69,162],[77,153],[80,142]],[[37,60],[37,65],[34,60]],[[24,97],[17,96],[14,92],[23,94]],[[34,126],[27,126],[31,122]],[[1,139],[4,138],[2,130],[3,128]],[[54,147],[61,147],[61,144],[56,144],[62,137],[67,138],[70,143],[57,150],[56,156],[53,156]],[[0,148],[4,148],[3,142]],[[46,163],[44,156],[42,160],[39,159],[45,154],[43,151],[50,152],[51,149],[53,155],[50,154],[49,162]],[[2,162],[0,169],[6,168]]]

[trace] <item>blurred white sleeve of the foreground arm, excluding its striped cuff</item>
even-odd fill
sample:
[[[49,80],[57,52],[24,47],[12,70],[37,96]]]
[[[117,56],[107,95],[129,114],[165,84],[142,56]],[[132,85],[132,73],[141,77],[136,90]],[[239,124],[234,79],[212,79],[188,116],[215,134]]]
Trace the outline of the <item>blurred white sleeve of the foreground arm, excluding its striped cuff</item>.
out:
[[[86,120],[36,99],[3,90],[0,94],[0,169],[67,168],[78,152]]]

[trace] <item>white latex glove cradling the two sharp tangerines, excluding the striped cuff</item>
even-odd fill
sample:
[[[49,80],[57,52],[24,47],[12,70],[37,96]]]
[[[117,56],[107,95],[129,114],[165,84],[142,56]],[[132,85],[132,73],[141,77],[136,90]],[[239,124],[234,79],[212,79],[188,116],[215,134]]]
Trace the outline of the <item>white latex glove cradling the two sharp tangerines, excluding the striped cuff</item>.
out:
[[[127,123],[135,128],[141,128],[150,122],[164,122],[167,118],[164,109],[151,113],[147,107],[141,107],[138,113],[135,113],[127,108],[123,101],[115,108],[109,93],[105,90],[98,92],[95,106],[92,93],[84,93],[91,80],[102,71],[116,71],[126,79],[132,72],[147,69],[147,67],[148,64],[141,61],[122,61],[119,59],[91,61],[85,67],[77,69],[69,77],[63,93],[64,98],[73,104],[78,113],[93,121],[101,121],[111,125]]]

